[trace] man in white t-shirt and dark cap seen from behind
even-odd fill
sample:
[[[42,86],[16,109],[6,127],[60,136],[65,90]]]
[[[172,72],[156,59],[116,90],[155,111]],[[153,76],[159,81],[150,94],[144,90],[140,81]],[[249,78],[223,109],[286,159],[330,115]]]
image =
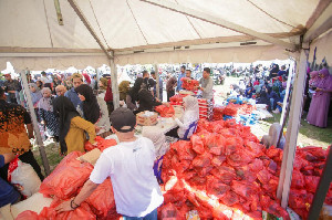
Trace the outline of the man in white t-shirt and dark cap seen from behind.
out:
[[[136,117],[128,108],[115,109],[111,122],[120,144],[102,153],[77,197],[61,203],[56,210],[62,212],[77,208],[111,177],[116,211],[125,220],[157,220],[157,208],[164,198],[153,170],[156,159],[153,142],[134,136]]]

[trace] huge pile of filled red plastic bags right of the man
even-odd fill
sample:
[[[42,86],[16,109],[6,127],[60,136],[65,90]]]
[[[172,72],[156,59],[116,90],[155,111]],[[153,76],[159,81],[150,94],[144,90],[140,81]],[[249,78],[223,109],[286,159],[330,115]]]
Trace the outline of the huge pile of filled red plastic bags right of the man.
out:
[[[323,159],[326,153],[320,153]],[[303,157],[297,153],[295,167],[302,175],[302,166],[308,166],[299,159]],[[305,157],[312,159],[309,154]],[[201,119],[190,142],[172,144],[164,156],[162,178],[165,184],[162,189],[165,202],[159,208],[159,216],[162,219],[185,219],[189,210],[197,210],[200,219],[262,219],[264,210],[289,219],[276,196],[281,161],[281,149],[271,147],[267,150],[249,127],[236,124],[235,119]],[[317,169],[319,174],[319,165],[311,170]],[[291,190],[294,196],[290,195],[290,207],[304,219],[308,201],[312,199],[305,190],[315,190],[312,179],[318,181],[315,177],[305,181],[294,171],[291,189],[295,191]],[[326,200],[331,198],[330,195]]]

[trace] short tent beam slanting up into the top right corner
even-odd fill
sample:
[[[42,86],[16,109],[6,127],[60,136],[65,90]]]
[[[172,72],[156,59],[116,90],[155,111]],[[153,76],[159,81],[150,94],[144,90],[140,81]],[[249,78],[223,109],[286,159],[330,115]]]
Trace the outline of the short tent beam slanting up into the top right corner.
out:
[[[322,12],[322,14],[314,21],[312,27],[305,32],[303,42],[310,42],[322,33],[332,28],[332,3]]]

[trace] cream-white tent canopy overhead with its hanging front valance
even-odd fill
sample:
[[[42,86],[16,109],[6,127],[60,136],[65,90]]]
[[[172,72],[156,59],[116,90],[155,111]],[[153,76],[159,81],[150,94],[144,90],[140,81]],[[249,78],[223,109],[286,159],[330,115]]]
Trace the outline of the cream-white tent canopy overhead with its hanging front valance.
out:
[[[110,64],[101,45],[113,51],[115,63],[122,65],[287,59],[280,42],[299,43],[293,36],[303,34],[331,1],[153,1],[175,4],[190,14],[145,0],[59,2],[63,25],[58,22],[54,1],[0,1],[0,69],[7,61],[17,70]],[[248,41],[256,44],[240,46]]]

